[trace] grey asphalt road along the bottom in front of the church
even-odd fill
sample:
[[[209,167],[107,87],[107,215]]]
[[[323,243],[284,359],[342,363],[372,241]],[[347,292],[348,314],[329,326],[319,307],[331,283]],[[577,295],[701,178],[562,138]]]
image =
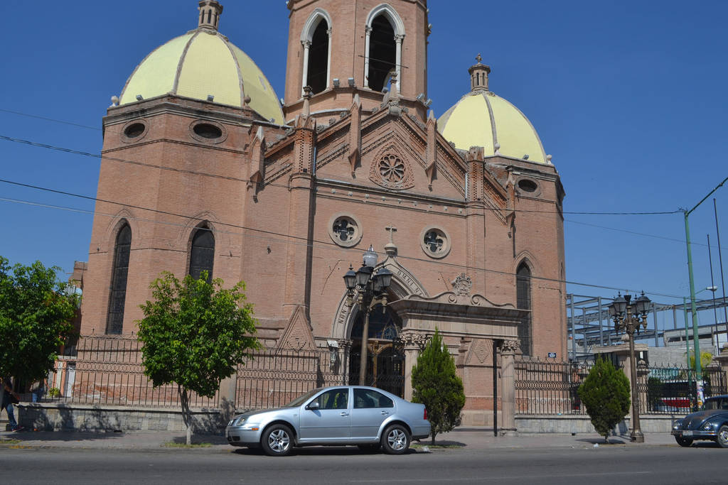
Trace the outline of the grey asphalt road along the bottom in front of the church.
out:
[[[725,484],[728,450],[436,449],[403,456],[308,448],[248,450],[0,448],[3,484]]]

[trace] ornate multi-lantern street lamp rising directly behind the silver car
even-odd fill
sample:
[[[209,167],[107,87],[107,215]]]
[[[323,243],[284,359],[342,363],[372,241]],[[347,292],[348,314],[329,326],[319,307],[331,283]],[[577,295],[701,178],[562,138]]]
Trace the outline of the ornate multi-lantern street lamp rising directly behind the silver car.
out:
[[[381,303],[382,312],[387,307],[387,289],[392,283],[392,271],[381,267],[374,273],[377,255],[370,245],[364,252],[362,266],[356,272],[352,266],[344,275],[344,284],[347,286],[347,306],[349,308],[356,301],[359,308],[364,311],[364,329],[362,331],[362,350],[359,366],[359,385],[366,385],[366,358],[367,341],[369,337],[369,313],[372,308]]]

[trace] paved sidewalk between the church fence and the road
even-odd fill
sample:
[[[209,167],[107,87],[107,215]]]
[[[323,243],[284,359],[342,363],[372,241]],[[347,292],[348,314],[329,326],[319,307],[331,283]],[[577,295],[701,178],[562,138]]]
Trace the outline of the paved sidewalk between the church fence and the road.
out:
[[[4,446],[29,448],[80,448],[80,449],[162,449],[165,444],[185,442],[184,433],[146,431],[130,433],[83,433],[78,431],[32,431],[17,433],[0,432],[0,449]],[[194,435],[193,443],[210,443],[201,448],[208,451],[228,452],[234,449],[223,436]],[[436,445],[451,445],[456,449],[553,449],[594,448],[598,446],[678,446],[668,433],[645,433],[645,443],[631,443],[629,436],[612,436],[609,445],[596,433],[577,434],[521,434],[513,437],[495,437],[490,428],[462,428],[439,434]],[[430,439],[422,440],[428,446]],[[418,448],[422,450],[422,448]],[[438,452],[440,449],[433,449]]]

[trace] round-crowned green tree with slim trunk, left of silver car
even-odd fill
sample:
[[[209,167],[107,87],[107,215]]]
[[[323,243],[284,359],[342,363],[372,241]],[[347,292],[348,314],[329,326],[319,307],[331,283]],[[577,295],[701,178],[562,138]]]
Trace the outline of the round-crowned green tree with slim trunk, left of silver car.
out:
[[[260,348],[253,318],[253,305],[245,303],[245,283],[223,289],[223,281],[207,282],[207,271],[199,279],[183,281],[164,272],[149,286],[154,301],[141,306],[144,318],[137,321],[142,346],[144,374],[154,385],[177,385],[182,417],[191,444],[192,422],[189,398],[192,392],[212,398],[221,380],[237,372]]]

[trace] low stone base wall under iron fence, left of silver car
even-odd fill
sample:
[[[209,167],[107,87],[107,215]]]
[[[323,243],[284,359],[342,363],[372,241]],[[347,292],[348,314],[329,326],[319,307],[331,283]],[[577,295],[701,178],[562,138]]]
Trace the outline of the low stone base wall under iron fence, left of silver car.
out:
[[[18,404],[15,419],[33,430],[185,431],[181,409],[129,408],[87,404]],[[195,434],[220,434],[227,420],[220,409],[193,411]]]

